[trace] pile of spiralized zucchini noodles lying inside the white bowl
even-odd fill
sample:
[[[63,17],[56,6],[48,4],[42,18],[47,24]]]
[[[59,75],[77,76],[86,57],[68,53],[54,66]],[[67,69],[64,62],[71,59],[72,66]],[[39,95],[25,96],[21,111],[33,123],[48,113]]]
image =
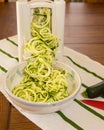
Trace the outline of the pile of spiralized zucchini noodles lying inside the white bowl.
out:
[[[33,69],[33,72],[28,70],[28,73],[28,67]],[[44,73],[43,68],[36,68],[35,71],[32,65],[26,66],[24,69],[25,76],[20,84],[15,86],[12,93],[19,98],[32,102],[53,102],[67,97],[69,95],[67,91],[69,74],[63,73],[64,70],[59,68],[47,67],[49,67],[49,70],[46,70],[48,73]]]

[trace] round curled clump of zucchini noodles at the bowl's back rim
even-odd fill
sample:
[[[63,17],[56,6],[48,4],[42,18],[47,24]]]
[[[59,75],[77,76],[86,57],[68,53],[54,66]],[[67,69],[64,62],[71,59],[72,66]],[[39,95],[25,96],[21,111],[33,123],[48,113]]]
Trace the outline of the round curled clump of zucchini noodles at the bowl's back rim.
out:
[[[34,61],[29,62],[25,67],[25,72],[33,78],[39,80],[46,80],[51,73],[52,66],[45,62],[42,58],[35,58]]]

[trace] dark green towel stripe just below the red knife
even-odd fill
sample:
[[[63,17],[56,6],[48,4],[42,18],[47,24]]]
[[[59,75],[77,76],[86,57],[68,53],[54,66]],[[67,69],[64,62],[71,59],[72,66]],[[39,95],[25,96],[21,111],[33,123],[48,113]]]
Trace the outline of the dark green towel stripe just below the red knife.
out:
[[[96,112],[94,109],[88,107],[87,105],[85,105],[84,103],[82,103],[81,101],[79,101],[78,99],[74,99],[74,101],[76,103],[78,103],[80,106],[82,106],[83,108],[85,108],[86,110],[88,110],[89,112],[91,112],[92,114],[94,114],[95,116],[97,116],[100,119],[104,120],[104,116],[101,115],[100,113]]]

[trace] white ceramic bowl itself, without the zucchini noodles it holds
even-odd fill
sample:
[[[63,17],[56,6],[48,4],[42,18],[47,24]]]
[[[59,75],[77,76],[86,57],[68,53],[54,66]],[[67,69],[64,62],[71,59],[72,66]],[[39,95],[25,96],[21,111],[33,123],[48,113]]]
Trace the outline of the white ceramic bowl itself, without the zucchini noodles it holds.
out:
[[[68,72],[73,74],[74,76],[73,79],[74,84],[72,84],[72,89],[73,87],[75,87],[75,89],[70,96],[68,96],[63,100],[55,101],[52,103],[37,103],[37,102],[26,101],[13,95],[13,93],[11,92],[12,89],[14,88],[14,86],[20,83],[20,80],[23,77],[22,72],[24,67],[26,66],[26,62],[23,62],[15,66],[12,70],[10,70],[6,76],[6,82],[4,88],[9,98],[12,100],[12,102],[18,105],[23,110],[33,112],[33,113],[38,113],[38,114],[55,112],[67,106],[72,101],[72,99],[78,94],[81,88],[81,79],[79,74],[69,65],[66,65],[62,62],[57,62],[56,65],[58,67],[67,69]]]

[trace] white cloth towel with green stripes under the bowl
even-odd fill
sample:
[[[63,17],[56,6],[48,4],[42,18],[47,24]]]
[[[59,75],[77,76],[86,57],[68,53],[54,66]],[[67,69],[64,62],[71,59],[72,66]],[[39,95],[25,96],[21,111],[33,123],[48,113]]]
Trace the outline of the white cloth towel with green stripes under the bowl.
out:
[[[17,36],[10,37],[9,39],[17,43]],[[69,56],[74,61],[73,63],[73,61],[69,60],[68,58],[63,58],[63,62],[72,66],[80,74],[82,83],[90,86],[101,81],[100,78],[92,75],[90,71],[104,78],[104,66],[101,65],[100,63],[93,61],[89,57],[66,47],[64,47],[64,55]],[[4,71],[6,70],[8,71],[14,65],[18,64],[15,57],[18,57],[18,47],[6,39],[1,40],[0,91],[20,113],[26,116],[33,123],[37,124],[43,130],[75,130],[75,129],[104,130],[104,111],[89,106],[91,109],[93,109],[94,111],[96,111],[101,115],[100,118],[99,116],[96,116],[95,114],[91,113],[90,111],[86,110],[84,107],[79,105],[75,100],[73,100],[72,103],[69,104],[67,108],[60,110],[61,115],[63,114],[64,116],[66,116],[68,122],[65,121],[58,113],[43,114],[43,115],[33,114],[24,111],[23,109],[19,108],[16,104],[14,104],[4,90],[4,82],[6,76],[6,72]],[[89,72],[86,72],[84,69],[81,69],[75,63],[87,68]],[[5,70],[3,70],[2,68],[5,68]],[[77,101],[83,99],[83,97],[81,96],[81,92],[84,90],[85,88],[82,87],[81,91],[76,96]],[[98,98],[98,100],[104,101],[104,99],[102,98]],[[64,118],[66,119],[66,117]],[[73,125],[73,123],[75,124]]]

